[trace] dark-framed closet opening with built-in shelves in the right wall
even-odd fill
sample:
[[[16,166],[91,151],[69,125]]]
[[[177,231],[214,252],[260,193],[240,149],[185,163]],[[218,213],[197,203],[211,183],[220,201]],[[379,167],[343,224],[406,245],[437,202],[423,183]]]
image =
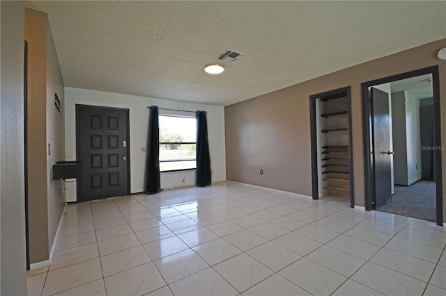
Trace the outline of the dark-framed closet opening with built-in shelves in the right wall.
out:
[[[351,88],[310,99],[313,199],[341,197],[353,208]]]

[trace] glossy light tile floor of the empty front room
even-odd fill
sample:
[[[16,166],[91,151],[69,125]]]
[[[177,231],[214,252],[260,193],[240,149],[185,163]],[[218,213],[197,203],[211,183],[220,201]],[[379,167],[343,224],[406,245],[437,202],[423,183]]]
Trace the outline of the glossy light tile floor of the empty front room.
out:
[[[446,295],[434,223],[233,183],[66,207],[29,295]]]

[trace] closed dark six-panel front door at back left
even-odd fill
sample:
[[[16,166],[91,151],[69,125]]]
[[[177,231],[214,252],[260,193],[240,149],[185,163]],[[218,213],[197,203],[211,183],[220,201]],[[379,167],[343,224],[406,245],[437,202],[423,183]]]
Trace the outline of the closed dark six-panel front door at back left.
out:
[[[128,109],[77,105],[77,200],[128,195]]]

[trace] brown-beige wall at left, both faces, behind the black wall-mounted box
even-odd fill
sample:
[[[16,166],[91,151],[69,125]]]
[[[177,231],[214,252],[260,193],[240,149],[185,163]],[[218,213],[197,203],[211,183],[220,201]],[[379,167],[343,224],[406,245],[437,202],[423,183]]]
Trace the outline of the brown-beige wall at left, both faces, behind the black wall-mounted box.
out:
[[[52,165],[64,159],[63,110],[54,106],[57,92],[63,108],[63,80],[45,13],[25,10],[28,72],[28,186],[30,263],[49,259],[63,211],[61,181],[52,180]],[[48,155],[48,146],[51,154]]]

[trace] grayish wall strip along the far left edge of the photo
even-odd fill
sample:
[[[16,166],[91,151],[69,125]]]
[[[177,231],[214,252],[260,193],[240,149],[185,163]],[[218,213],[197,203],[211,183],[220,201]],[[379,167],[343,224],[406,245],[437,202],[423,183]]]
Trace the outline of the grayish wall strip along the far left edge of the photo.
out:
[[[24,215],[24,1],[1,10],[0,295],[26,295]]]

